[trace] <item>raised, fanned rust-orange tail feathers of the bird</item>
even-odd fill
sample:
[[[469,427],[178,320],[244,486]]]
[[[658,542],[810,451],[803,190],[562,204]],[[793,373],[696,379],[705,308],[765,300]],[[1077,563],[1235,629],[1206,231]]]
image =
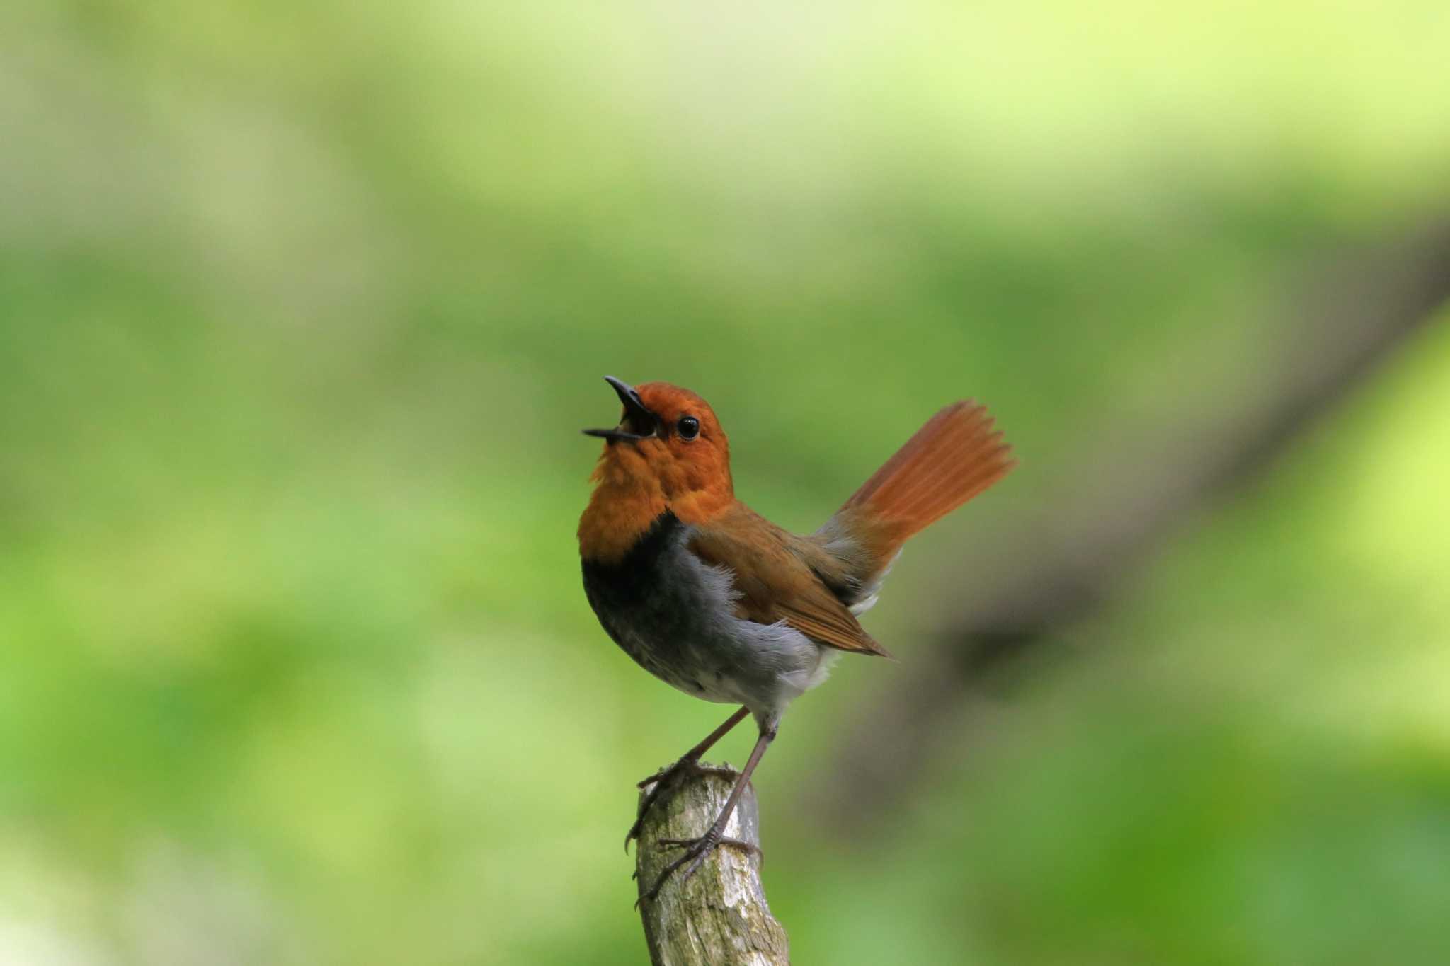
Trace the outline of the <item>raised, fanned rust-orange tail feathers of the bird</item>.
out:
[[[914,533],[1006,475],[1015,461],[986,407],[953,403],[927,420],[841,507],[880,565]]]

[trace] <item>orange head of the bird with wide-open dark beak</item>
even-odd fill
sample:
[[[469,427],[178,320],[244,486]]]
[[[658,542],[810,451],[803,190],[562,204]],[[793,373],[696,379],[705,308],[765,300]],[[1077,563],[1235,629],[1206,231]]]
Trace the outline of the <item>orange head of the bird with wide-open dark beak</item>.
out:
[[[594,469],[599,491],[663,501],[686,523],[708,520],[734,501],[729,440],[709,403],[668,382],[605,379],[624,414],[613,429],[584,430],[605,439]]]

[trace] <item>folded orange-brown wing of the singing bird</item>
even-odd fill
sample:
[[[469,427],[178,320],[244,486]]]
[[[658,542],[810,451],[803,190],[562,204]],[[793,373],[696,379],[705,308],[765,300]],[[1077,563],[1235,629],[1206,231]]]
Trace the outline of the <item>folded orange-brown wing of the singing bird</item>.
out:
[[[737,504],[724,518],[697,524],[690,550],[703,562],[729,568],[738,617],[757,624],[784,621],[829,647],[890,655],[802,559],[798,537]]]

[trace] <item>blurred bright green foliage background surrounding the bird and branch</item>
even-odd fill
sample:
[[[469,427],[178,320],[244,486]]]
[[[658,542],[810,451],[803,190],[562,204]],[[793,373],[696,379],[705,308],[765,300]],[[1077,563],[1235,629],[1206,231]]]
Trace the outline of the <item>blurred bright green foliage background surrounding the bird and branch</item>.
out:
[[[725,710],[584,601],[605,372],[795,529],[958,397],[1022,458],[761,766],[796,962],[1450,962],[1444,320],[886,814],[805,791],[967,549],[1450,213],[1447,119],[1438,0],[10,0],[0,962],[644,962],[631,784]]]

